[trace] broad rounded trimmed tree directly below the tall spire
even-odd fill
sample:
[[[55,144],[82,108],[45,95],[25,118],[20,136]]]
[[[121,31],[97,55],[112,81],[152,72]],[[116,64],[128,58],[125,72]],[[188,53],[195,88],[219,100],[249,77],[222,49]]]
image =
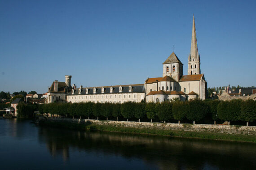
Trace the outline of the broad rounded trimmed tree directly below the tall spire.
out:
[[[190,100],[188,105],[187,119],[199,121],[204,118],[208,112],[208,106],[202,100]]]

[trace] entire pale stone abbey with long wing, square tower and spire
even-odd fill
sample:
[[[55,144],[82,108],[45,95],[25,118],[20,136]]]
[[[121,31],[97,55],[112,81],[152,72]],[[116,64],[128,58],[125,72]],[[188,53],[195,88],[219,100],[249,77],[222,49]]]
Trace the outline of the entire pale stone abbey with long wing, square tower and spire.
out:
[[[174,98],[182,101],[193,98],[204,100],[207,95],[207,82],[200,70],[194,16],[187,71],[188,75],[183,75],[183,64],[172,52],[163,62],[163,75],[148,78],[144,84],[102,87],[81,85],[77,88],[76,85],[71,86],[71,76],[65,76],[65,82],[53,81],[45,102],[163,102]]]

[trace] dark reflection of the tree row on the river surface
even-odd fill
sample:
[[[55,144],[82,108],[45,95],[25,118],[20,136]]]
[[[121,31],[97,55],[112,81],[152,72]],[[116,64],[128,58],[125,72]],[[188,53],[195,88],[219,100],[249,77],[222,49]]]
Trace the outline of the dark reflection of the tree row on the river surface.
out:
[[[68,159],[69,148],[142,159],[157,169],[253,169],[256,145],[122,133],[40,128],[40,140],[53,156]]]

